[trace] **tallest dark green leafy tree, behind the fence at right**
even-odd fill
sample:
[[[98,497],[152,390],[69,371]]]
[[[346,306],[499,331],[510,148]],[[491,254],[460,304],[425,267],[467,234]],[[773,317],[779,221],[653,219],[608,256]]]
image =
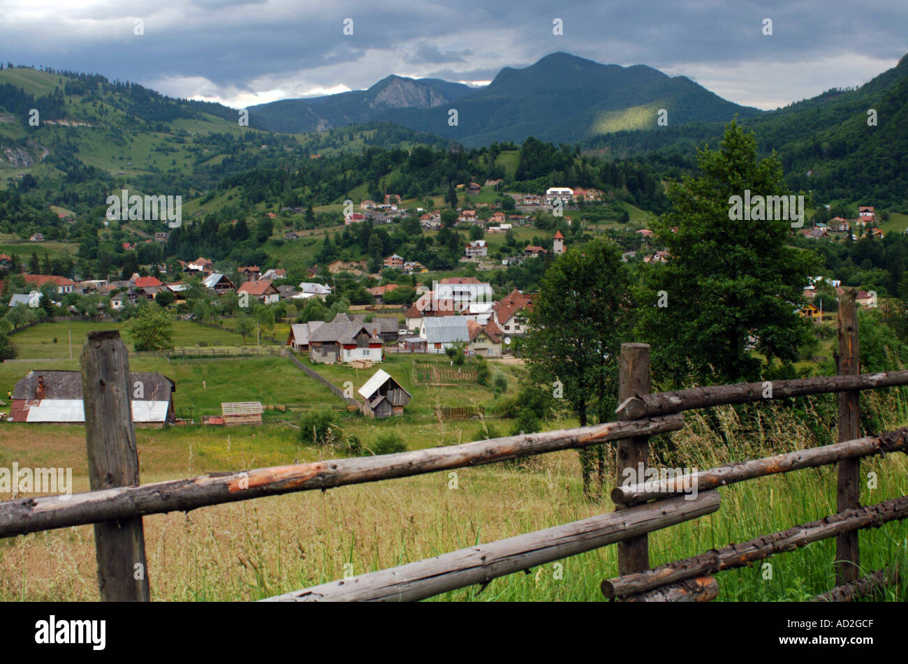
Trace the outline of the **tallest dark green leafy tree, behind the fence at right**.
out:
[[[646,266],[637,337],[653,345],[656,374],[680,383],[755,379],[797,359],[809,336],[798,315],[814,252],[788,244],[790,220],[729,219],[733,196],[787,195],[775,152],[756,155],[753,133],[725,127],[718,151],[697,152],[700,173],[670,182],[672,209],[654,229],[666,263]],[[806,202],[805,202],[806,205]],[[675,232],[672,229],[676,228]]]

